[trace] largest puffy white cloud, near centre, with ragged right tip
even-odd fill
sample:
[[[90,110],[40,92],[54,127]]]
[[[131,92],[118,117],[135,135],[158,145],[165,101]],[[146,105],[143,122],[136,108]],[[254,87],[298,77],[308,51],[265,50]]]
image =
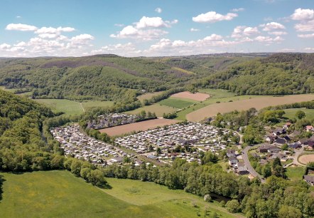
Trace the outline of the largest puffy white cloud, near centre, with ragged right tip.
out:
[[[178,20],[163,21],[161,17],[146,17],[143,16],[138,22],[133,25],[125,26],[117,34],[111,34],[112,38],[134,38],[142,41],[151,41],[161,38],[167,34],[163,28],[170,28],[173,24],[177,24]]]

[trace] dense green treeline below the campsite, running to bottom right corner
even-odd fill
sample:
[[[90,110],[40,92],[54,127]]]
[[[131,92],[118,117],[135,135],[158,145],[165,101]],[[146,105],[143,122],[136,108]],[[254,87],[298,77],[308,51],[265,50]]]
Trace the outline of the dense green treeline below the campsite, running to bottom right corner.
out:
[[[313,217],[314,198],[306,182],[290,182],[271,175],[266,183],[259,179],[227,173],[217,164],[188,163],[175,159],[172,166],[109,165],[102,169],[106,177],[156,182],[169,189],[192,194],[220,194],[232,199],[225,207],[230,212],[243,212],[247,217]],[[224,206],[224,204],[222,204]]]

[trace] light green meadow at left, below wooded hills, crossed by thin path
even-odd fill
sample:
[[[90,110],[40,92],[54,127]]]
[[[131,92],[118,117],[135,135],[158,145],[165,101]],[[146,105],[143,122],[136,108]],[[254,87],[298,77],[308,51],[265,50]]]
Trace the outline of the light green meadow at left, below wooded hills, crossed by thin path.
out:
[[[38,103],[43,103],[53,112],[64,112],[65,115],[80,115],[83,108],[80,103],[67,99],[36,99]]]

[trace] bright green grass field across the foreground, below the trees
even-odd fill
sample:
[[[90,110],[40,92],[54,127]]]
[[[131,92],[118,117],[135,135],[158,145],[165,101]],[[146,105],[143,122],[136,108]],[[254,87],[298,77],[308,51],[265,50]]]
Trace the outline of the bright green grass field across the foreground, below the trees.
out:
[[[229,214],[217,203],[152,182],[108,179],[101,190],[67,171],[0,173],[4,180],[1,217],[204,217],[204,208]],[[193,207],[196,204],[197,207]]]

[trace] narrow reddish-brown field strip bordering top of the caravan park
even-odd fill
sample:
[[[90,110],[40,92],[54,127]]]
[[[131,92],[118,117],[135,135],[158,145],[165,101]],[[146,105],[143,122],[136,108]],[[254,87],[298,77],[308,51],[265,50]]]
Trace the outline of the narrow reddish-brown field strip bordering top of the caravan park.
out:
[[[99,131],[100,133],[107,133],[110,136],[114,136],[114,135],[122,135],[125,133],[131,133],[133,131],[136,131],[136,132],[145,131],[145,130],[162,127],[164,125],[171,125],[175,123],[178,123],[178,120],[158,118],[154,120],[146,120],[146,121],[141,121],[137,123],[118,125],[112,128],[105,128]]]

